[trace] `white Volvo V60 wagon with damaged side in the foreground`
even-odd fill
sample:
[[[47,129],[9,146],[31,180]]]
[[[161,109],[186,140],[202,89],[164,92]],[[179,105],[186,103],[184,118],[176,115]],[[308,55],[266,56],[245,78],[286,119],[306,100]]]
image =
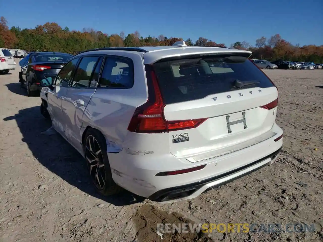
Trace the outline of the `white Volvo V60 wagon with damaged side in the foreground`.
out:
[[[278,90],[251,54],[184,42],[85,51],[42,81],[41,112],[100,193],[193,198],[272,164],[282,147]]]

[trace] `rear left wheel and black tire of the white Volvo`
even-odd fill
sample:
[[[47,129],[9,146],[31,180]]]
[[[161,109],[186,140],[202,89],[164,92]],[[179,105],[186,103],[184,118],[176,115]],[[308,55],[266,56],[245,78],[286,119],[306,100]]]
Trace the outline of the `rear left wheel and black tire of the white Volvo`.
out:
[[[89,145],[90,142],[92,142],[91,146]],[[92,149],[92,151],[90,149]],[[88,129],[83,141],[83,151],[86,166],[88,167],[90,178],[96,190],[104,196],[111,196],[122,191],[123,188],[119,187],[112,179],[112,173],[107,154],[106,140],[99,130],[92,128]],[[89,160],[92,160],[92,162],[89,162]],[[95,164],[98,165],[95,166]],[[103,177],[104,181],[102,179]]]

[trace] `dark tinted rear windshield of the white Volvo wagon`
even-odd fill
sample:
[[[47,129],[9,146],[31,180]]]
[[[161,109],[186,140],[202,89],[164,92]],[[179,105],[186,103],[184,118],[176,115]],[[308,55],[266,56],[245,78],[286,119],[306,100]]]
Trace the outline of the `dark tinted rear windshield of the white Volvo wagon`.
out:
[[[238,90],[232,85],[235,80],[259,82],[243,88],[274,86],[254,63],[241,56],[208,55],[162,61],[153,66],[167,104]]]

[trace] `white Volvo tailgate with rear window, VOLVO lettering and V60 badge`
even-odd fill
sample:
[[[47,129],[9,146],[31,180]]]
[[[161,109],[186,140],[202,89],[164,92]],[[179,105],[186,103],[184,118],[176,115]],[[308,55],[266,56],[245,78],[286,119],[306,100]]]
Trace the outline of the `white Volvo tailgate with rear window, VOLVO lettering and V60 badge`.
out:
[[[153,65],[164,118],[181,125],[169,132],[174,156],[230,153],[275,122],[277,88],[247,56],[184,57]]]

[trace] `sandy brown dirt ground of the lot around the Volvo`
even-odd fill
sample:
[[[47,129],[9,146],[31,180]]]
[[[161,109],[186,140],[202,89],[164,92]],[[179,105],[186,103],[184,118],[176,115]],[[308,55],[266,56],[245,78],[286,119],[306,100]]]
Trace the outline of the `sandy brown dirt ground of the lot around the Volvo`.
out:
[[[40,98],[20,88],[18,71],[0,76],[1,241],[322,241],[323,70],[264,70],[279,88],[277,123],[285,134],[272,166],[167,205],[127,192],[96,194],[74,148],[41,134],[51,125],[39,112]],[[185,221],[283,229],[315,223],[315,232],[156,233],[157,223]]]

